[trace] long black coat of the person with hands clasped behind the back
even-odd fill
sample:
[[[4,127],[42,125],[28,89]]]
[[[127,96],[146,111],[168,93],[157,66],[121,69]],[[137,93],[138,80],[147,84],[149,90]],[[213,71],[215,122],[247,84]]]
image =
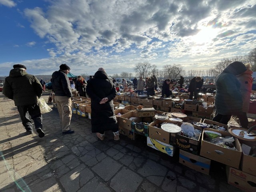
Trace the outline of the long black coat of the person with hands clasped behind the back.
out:
[[[86,93],[91,98],[92,132],[104,132],[118,128],[113,104],[113,99],[117,94],[116,87],[106,72],[97,71],[94,74],[94,78],[86,86]],[[100,104],[105,97],[108,98],[108,102]]]

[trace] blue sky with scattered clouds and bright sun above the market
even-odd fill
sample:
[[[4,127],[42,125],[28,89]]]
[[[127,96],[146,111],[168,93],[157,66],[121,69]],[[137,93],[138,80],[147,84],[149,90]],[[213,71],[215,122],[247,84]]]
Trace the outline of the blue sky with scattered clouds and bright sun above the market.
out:
[[[13,64],[52,74],[207,70],[256,45],[255,0],[0,0],[0,76]]]

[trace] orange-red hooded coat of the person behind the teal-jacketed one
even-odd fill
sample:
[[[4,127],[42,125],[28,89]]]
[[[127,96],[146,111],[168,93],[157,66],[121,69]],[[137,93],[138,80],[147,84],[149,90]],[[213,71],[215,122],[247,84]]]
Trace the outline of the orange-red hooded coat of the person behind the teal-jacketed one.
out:
[[[252,92],[252,70],[248,69],[244,73],[237,76],[238,81],[240,82],[240,92],[242,94],[243,100],[243,112],[249,111],[250,105],[250,94]]]

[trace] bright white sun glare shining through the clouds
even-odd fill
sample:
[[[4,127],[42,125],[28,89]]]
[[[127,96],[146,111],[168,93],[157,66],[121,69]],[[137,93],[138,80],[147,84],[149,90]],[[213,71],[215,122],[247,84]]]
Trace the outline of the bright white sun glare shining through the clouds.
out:
[[[198,34],[193,36],[191,40],[196,44],[207,44],[212,41],[213,38],[218,34],[218,29],[213,29],[211,27],[204,27],[200,30]]]

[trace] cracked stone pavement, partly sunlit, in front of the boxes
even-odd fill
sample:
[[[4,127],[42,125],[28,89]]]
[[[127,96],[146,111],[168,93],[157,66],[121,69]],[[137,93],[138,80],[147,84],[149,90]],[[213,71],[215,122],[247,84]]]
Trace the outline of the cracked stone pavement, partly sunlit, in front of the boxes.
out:
[[[44,92],[48,100],[50,92]],[[52,105],[50,105],[52,107]],[[212,162],[210,175],[178,163],[146,145],[146,137],[104,141],[90,119],[72,114],[74,134],[62,135],[56,108],[43,114],[44,138],[24,134],[14,102],[0,95],[1,192],[236,192],[225,166]]]

